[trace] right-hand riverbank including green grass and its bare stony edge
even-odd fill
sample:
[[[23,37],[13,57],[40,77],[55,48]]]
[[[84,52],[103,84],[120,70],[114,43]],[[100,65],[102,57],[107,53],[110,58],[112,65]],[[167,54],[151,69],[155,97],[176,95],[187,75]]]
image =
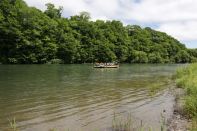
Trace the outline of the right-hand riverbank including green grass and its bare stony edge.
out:
[[[197,130],[197,64],[191,64],[177,70],[175,75],[177,88],[175,109],[170,120],[169,130]]]

